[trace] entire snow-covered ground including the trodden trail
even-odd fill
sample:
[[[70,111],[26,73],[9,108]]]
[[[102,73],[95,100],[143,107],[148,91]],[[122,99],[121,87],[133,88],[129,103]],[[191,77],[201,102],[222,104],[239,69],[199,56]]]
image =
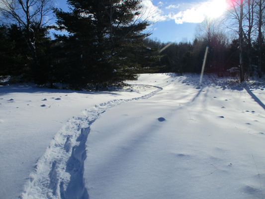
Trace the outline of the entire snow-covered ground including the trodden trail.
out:
[[[265,84],[198,81],[0,87],[0,199],[264,199]]]

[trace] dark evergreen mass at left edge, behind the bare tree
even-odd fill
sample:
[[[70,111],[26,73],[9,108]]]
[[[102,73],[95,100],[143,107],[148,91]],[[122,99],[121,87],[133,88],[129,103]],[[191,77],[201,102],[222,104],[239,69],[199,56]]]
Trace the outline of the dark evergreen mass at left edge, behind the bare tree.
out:
[[[38,59],[34,60],[24,38],[25,29],[21,30],[16,24],[0,25],[0,76],[10,76],[13,81],[33,81],[39,85],[51,82],[52,41],[47,37],[47,27],[38,29],[35,37]]]

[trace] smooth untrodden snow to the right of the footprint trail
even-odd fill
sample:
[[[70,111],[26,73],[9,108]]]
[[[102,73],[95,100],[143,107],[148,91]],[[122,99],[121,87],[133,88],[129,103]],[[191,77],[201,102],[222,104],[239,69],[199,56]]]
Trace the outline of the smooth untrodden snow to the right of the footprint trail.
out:
[[[265,198],[265,110],[243,89],[187,79],[90,126],[90,199]]]

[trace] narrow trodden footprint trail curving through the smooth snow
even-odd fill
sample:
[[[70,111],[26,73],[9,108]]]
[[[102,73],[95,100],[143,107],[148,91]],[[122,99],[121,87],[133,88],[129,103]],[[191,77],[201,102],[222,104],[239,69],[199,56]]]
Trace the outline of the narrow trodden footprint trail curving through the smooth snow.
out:
[[[21,194],[21,199],[88,199],[83,179],[86,141],[90,125],[107,109],[132,100],[148,99],[163,90],[157,90],[129,100],[111,100],[83,110],[70,119],[55,135],[45,154],[38,160]]]

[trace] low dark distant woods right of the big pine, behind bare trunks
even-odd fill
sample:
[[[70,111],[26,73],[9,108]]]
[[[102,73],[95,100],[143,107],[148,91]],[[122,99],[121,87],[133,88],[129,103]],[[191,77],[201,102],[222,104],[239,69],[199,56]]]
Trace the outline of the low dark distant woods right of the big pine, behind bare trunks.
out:
[[[209,47],[205,65],[206,73],[215,73],[219,76],[240,75],[239,40],[228,40],[216,35],[210,42],[206,38],[195,38],[192,42],[163,43],[158,40],[146,39],[147,46],[159,48],[155,55],[160,55],[157,62],[161,66],[160,72],[200,73],[206,46]],[[246,77],[259,76],[259,47],[257,41],[252,44],[251,65],[249,64],[248,47],[243,47],[244,71]],[[262,59],[265,59],[265,45],[262,46]],[[164,66],[164,67],[163,67]],[[262,62],[262,74],[265,73],[265,64]]]

